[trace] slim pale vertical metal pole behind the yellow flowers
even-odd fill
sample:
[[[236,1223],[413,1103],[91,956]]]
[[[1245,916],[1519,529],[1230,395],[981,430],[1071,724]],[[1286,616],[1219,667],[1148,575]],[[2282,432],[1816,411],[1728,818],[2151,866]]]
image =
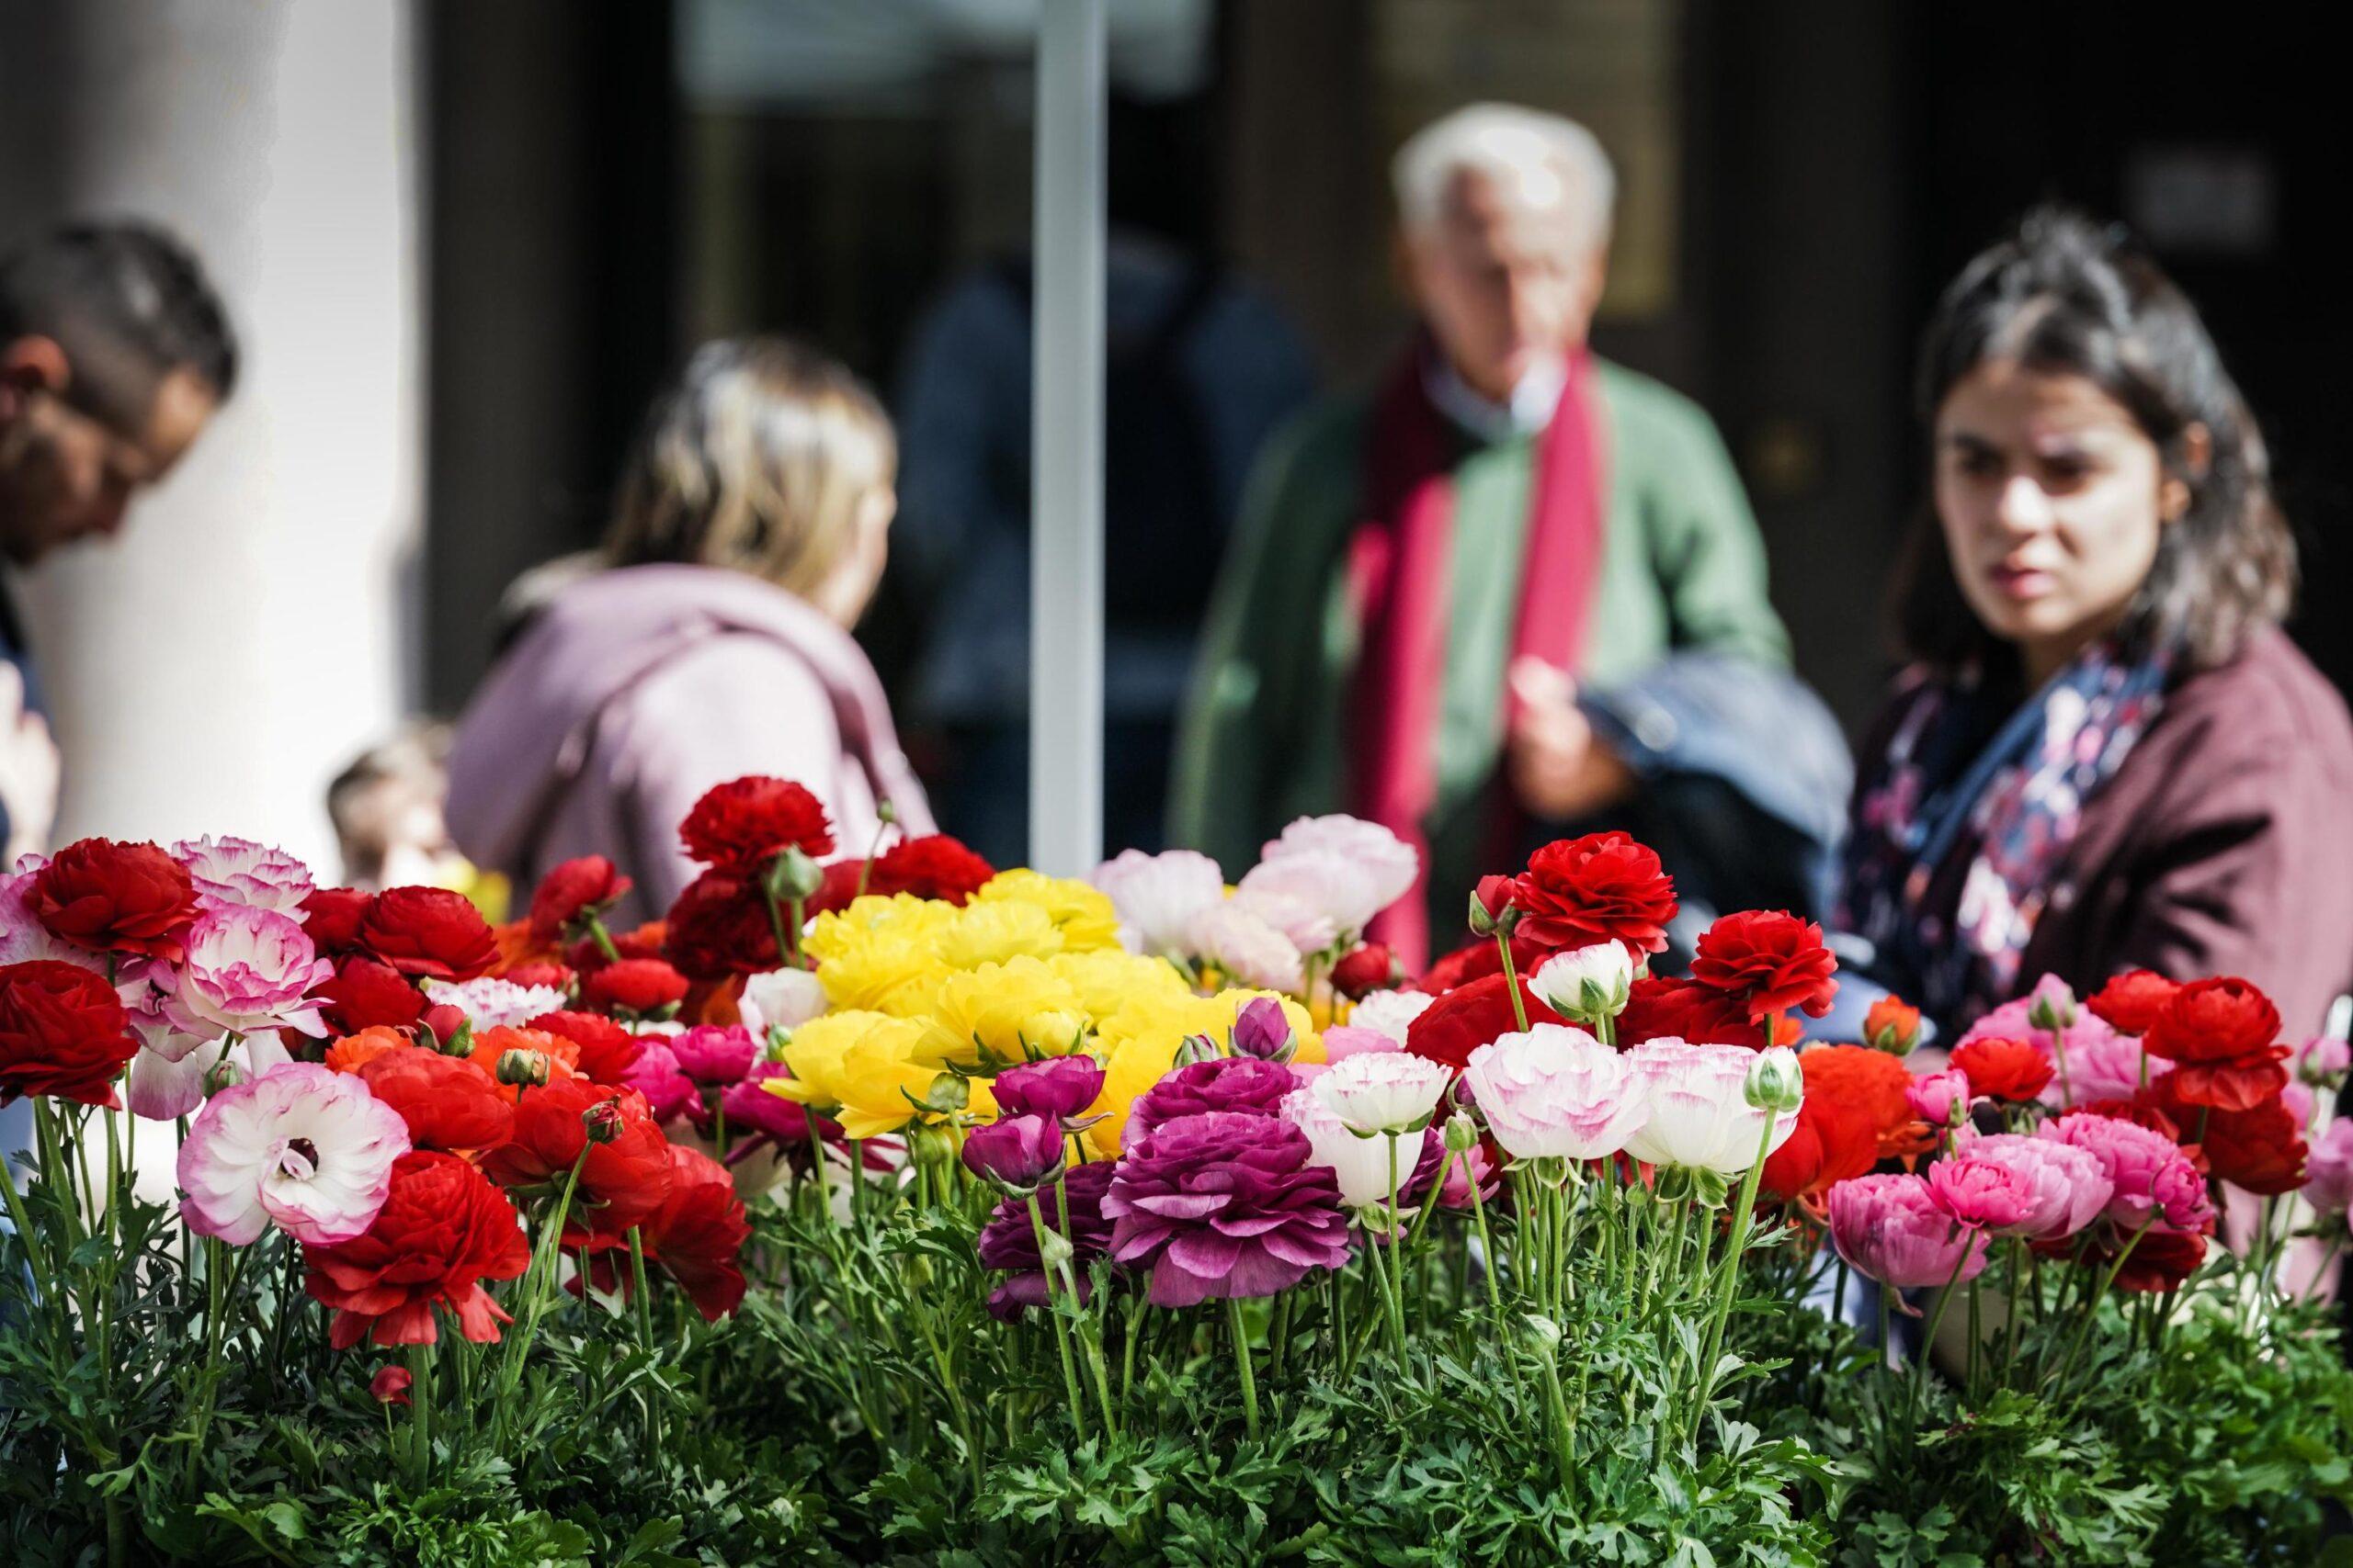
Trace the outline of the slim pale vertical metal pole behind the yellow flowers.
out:
[[[1031,865],[1104,853],[1104,0],[1038,24]]]

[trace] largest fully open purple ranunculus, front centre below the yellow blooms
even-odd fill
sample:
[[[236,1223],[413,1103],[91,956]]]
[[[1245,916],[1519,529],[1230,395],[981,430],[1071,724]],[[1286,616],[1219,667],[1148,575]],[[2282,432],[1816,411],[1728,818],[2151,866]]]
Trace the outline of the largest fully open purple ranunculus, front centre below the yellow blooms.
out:
[[[1127,1147],[1104,1194],[1113,1260],[1151,1265],[1155,1307],[1275,1295],[1308,1269],[1346,1265],[1339,1182],[1327,1166],[1308,1164],[1311,1152],[1308,1135],[1280,1117],[1198,1112],[1162,1121]]]

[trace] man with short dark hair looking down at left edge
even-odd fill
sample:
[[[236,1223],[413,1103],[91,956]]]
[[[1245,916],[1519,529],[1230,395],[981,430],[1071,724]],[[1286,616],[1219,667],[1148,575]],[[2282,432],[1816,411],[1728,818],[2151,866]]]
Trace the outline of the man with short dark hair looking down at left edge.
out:
[[[71,223],[0,256],[0,557],[28,567],[111,536],[238,381],[202,266],[148,223]],[[0,590],[0,839],[35,849],[56,809],[40,682]]]

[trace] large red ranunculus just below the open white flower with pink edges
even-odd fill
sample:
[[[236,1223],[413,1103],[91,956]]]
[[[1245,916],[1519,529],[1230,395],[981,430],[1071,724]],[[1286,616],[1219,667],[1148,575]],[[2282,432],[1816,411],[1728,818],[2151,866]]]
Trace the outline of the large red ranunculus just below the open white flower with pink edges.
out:
[[[456,1314],[459,1333],[487,1342],[513,1319],[489,1300],[485,1279],[532,1267],[515,1206],[456,1154],[409,1150],[393,1161],[393,1192],[367,1234],[306,1246],[304,1288],[334,1309],[327,1340],[351,1349],[431,1345],[433,1307]]]

